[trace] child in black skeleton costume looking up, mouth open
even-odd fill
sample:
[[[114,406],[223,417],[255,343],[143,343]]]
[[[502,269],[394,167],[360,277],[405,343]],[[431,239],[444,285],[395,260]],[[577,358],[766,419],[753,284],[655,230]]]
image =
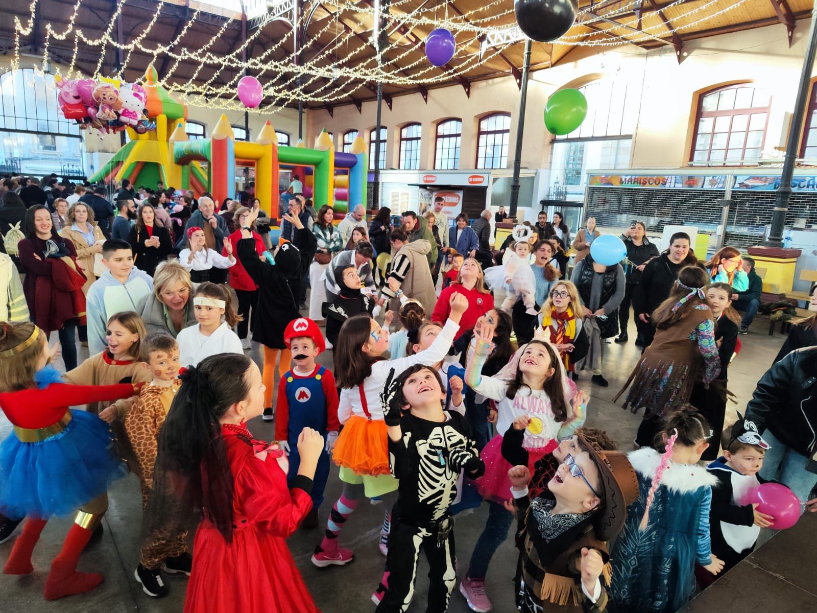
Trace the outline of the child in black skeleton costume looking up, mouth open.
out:
[[[450,508],[459,473],[475,479],[485,466],[465,418],[443,410],[444,398],[433,367],[413,365],[396,378],[391,369],[386,378],[381,408],[389,466],[400,488],[386,556],[388,587],[377,613],[403,613],[411,605],[421,549],[430,567],[426,611],[443,613],[457,583]]]

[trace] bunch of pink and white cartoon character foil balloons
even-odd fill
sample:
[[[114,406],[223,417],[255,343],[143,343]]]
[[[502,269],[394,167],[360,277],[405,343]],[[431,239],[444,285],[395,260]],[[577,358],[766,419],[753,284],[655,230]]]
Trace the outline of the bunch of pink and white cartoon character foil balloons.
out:
[[[144,134],[156,129],[147,117],[147,92],[138,83],[116,85],[111,81],[92,78],[64,80],[56,78],[60,90],[57,102],[65,119],[74,119],[83,130],[96,128],[100,132],[122,132],[133,128]]]

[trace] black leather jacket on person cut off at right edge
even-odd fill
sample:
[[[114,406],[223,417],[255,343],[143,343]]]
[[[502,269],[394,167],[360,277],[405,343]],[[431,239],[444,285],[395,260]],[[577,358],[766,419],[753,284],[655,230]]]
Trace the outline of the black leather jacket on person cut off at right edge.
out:
[[[810,458],[817,450],[817,347],[792,351],[772,365],[757,382],[746,405],[746,418],[759,432],[768,430]]]

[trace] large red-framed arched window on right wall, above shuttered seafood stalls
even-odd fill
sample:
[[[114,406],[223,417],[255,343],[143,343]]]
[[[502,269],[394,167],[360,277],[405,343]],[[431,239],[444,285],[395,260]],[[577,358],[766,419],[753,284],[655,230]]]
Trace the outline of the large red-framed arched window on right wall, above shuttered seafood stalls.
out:
[[[759,159],[769,110],[769,92],[752,83],[701,94],[690,161],[724,165]]]

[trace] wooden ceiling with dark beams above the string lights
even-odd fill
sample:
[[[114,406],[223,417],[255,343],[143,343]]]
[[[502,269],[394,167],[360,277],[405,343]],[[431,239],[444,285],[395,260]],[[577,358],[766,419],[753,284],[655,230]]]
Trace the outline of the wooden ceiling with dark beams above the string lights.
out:
[[[372,44],[374,2],[375,0],[358,0],[356,4],[350,2],[340,6],[333,2],[304,2],[304,14],[308,14],[313,8],[314,12],[306,29],[306,43],[302,47],[300,65],[311,63],[327,69],[337,65],[370,71],[375,69],[377,51]],[[81,0],[74,21],[75,28],[82,30],[88,38],[100,36],[114,18],[117,4],[118,2],[111,0]],[[489,8],[480,10],[486,4],[488,3],[482,0],[400,0],[395,2],[395,7],[390,8],[390,14],[412,15],[426,21],[447,16],[449,20],[458,20],[463,24],[478,20],[477,23],[482,28],[516,25],[512,0],[492,2]],[[739,6],[725,11],[735,4]],[[580,15],[577,23],[565,34],[566,37],[572,37],[569,42],[574,44],[534,43],[531,69],[547,69],[558,65],[578,48],[575,43],[612,43],[624,38],[627,42],[645,48],[672,47],[681,60],[687,41],[743,29],[781,24],[788,29],[791,40],[794,29],[804,27],[797,25],[797,20],[810,16],[812,4],[811,0],[743,0],[742,3],[740,0],[578,0]],[[18,16],[24,25],[28,23],[32,16],[32,5],[30,0],[5,0],[4,5],[6,18],[0,20],[0,51],[10,54],[15,47],[14,17]],[[75,5],[75,0],[38,0],[34,4],[31,34],[20,36],[20,53],[24,54],[24,63],[30,65],[35,61],[28,54],[42,56],[49,25],[56,32],[64,31],[69,26]],[[355,7],[359,7],[359,11]],[[171,0],[163,2],[161,7],[154,0],[125,0],[113,33],[126,44],[143,37],[141,42],[149,48],[167,45],[183,34],[181,40],[172,47],[172,51],[179,51],[181,48],[200,49],[221,32],[209,51],[217,56],[225,56],[241,46],[245,35],[251,37],[255,32],[253,25],[257,20],[248,21],[244,34],[241,20],[233,20],[224,27],[227,21],[225,17],[205,11],[199,11],[195,22],[185,29],[194,8],[190,6],[190,0]],[[145,34],[157,9],[161,11],[158,20]],[[457,34],[457,54],[449,65],[442,69],[427,70],[428,62],[421,43],[433,27],[431,23],[416,24],[409,20],[403,24],[391,22],[387,28],[389,48],[383,54],[384,60],[391,60],[389,70],[397,80],[408,81],[383,83],[387,104],[391,105],[392,96],[411,92],[425,93],[431,87],[459,83],[470,94],[470,83],[473,81],[506,75],[519,79],[524,50],[522,41],[507,47],[483,47],[484,61],[477,63],[473,57],[480,54],[482,47],[479,34],[467,31]],[[338,45],[337,37],[346,40]],[[277,45],[271,57],[276,61],[291,61],[293,39],[291,25],[281,20],[270,21],[261,25],[261,32],[252,40],[247,55],[252,58]],[[51,62],[68,64],[74,56],[74,38],[50,38],[47,47]],[[594,48],[604,50],[611,47]],[[176,86],[188,83],[190,79],[196,85],[210,81],[215,86],[226,86],[240,73],[238,67],[202,66],[192,60],[183,60],[176,65],[175,60],[163,53],[158,54],[154,60],[152,54],[138,49],[128,53],[107,48],[104,53],[101,74],[115,74],[124,65],[123,77],[131,82],[141,80],[151,62],[160,78],[167,78],[168,83]],[[98,47],[89,47],[82,42],[78,44],[76,67],[84,74],[93,74],[99,60]],[[170,70],[172,74],[168,74]],[[251,69],[249,74],[252,72]],[[345,104],[359,106],[363,101],[372,100],[377,92],[377,83],[348,74],[334,79],[312,76],[306,75],[306,80],[311,81],[305,87],[307,92],[335,93],[331,96],[332,100],[307,101],[307,108],[331,108]],[[261,82],[270,87],[291,87],[288,83],[295,83],[296,77],[297,74],[292,72],[273,75],[267,72],[261,75]],[[269,104],[271,101],[267,99],[265,103]],[[297,105],[297,98],[286,100],[286,104]]]

